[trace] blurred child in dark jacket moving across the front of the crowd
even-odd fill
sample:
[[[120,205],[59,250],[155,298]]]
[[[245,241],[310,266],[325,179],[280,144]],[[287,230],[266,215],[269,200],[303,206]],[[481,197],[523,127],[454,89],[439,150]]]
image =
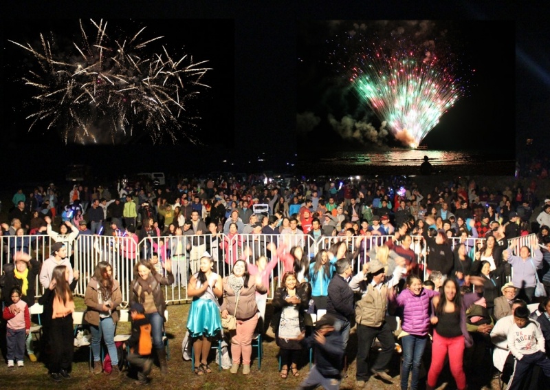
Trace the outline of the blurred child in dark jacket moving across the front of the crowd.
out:
[[[314,348],[315,365],[302,383],[300,389],[340,389],[344,342],[342,335],[336,332],[336,318],[329,314],[323,316],[315,325],[315,333],[302,341],[307,349]]]

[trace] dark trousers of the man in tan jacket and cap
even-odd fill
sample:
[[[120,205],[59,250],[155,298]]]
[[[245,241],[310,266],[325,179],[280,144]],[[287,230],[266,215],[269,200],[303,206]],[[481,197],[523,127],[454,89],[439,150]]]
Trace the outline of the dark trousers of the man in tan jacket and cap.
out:
[[[357,352],[357,380],[369,379],[369,352],[375,338],[378,338],[382,344],[382,351],[378,354],[373,369],[376,371],[384,370],[390,363],[395,349],[395,340],[388,323],[380,327],[370,327],[366,325],[357,325],[358,352]]]

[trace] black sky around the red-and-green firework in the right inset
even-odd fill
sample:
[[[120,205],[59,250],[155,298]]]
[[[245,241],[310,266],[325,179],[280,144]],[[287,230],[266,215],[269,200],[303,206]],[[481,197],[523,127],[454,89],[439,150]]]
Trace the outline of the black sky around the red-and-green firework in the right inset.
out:
[[[423,25],[420,21],[415,25],[388,21],[383,26],[373,21],[299,23],[298,113],[309,111],[320,118],[318,127],[306,133],[305,142],[320,140],[320,147],[325,144],[325,147],[334,148],[333,144],[322,141],[329,137],[335,141],[340,139],[327,120],[329,114],[338,122],[343,116],[351,116],[355,120],[372,122],[376,129],[380,128],[381,120],[353,93],[348,81],[349,74],[341,70],[342,63],[349,63],[349,58],[353,61],[355,56],[362,54],[358,45],[362,30],[354,28],[354,24],[366,25],[363,41],[388,39],[388,46],[393,44],[390,34],[395,33],[397,28],[404,27],[400,36],[413,41]],[[465,96],[441,116],[439,124],[428,133],[423,144],[428,144],[429,149],[484,149],[513,156],[514,144],[502,135],[513,134],[515,126],[514,87],[509,83],[514,78],[514,22],[430,21],[426,24],[430,28],[419,36],[419,42],[434,39],[436,50],[445,47],[439,56],[454,57],[450,61],[457,67],[454,74],[463,77],[463,85],[467,87]],[[445,40],[440,41],[443,30]],[[349,31],[356,33],[353,38],[349,38]],[[336,54],[329,56],[335,48]],[[312,133],[316,136],[311,137]],[[389,136],[386,139],[392,138]],[[300,138],[298,142],[300,144]],[[394,145],[395,142],[386,141],[383,144]],[[376,149],[377,145],[365,140],[361,147]]]

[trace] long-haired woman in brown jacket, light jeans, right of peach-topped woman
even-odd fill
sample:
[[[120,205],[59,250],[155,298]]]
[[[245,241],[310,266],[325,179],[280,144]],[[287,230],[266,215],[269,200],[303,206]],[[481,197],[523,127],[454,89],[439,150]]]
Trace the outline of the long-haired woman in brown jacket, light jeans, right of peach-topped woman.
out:
[[[94,373],[102,372],[101,338],[107,345],[113,371],[111,380],[120,375],[115,346],[115,324],[118,321],[117,307],[122,303],[122,292],[118,281],[113,279],[113,268],[107,261],[100,261],[86,288],[84,303],[87,306],[84,316],[90,325],[91,351],[94,354]]]

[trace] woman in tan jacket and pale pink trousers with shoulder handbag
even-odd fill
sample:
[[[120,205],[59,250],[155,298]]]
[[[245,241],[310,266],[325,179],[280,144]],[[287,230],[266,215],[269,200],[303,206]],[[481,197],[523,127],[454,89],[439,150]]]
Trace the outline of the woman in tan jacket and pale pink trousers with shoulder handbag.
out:
[[[234,263],[233,273],[223,278],[223,303],[221,305],[222,325],[231,335],[231,373],[239,371],[241,356],[243,374],[250,373],[252,356],[252,336],[258,323],[256,291],[264,294],[267,288],[261,279],[248,273],[247,263],[238,260]],[[231,318],[234,316],[234,319]],[[234,329],[232,323],[234,322]]]

